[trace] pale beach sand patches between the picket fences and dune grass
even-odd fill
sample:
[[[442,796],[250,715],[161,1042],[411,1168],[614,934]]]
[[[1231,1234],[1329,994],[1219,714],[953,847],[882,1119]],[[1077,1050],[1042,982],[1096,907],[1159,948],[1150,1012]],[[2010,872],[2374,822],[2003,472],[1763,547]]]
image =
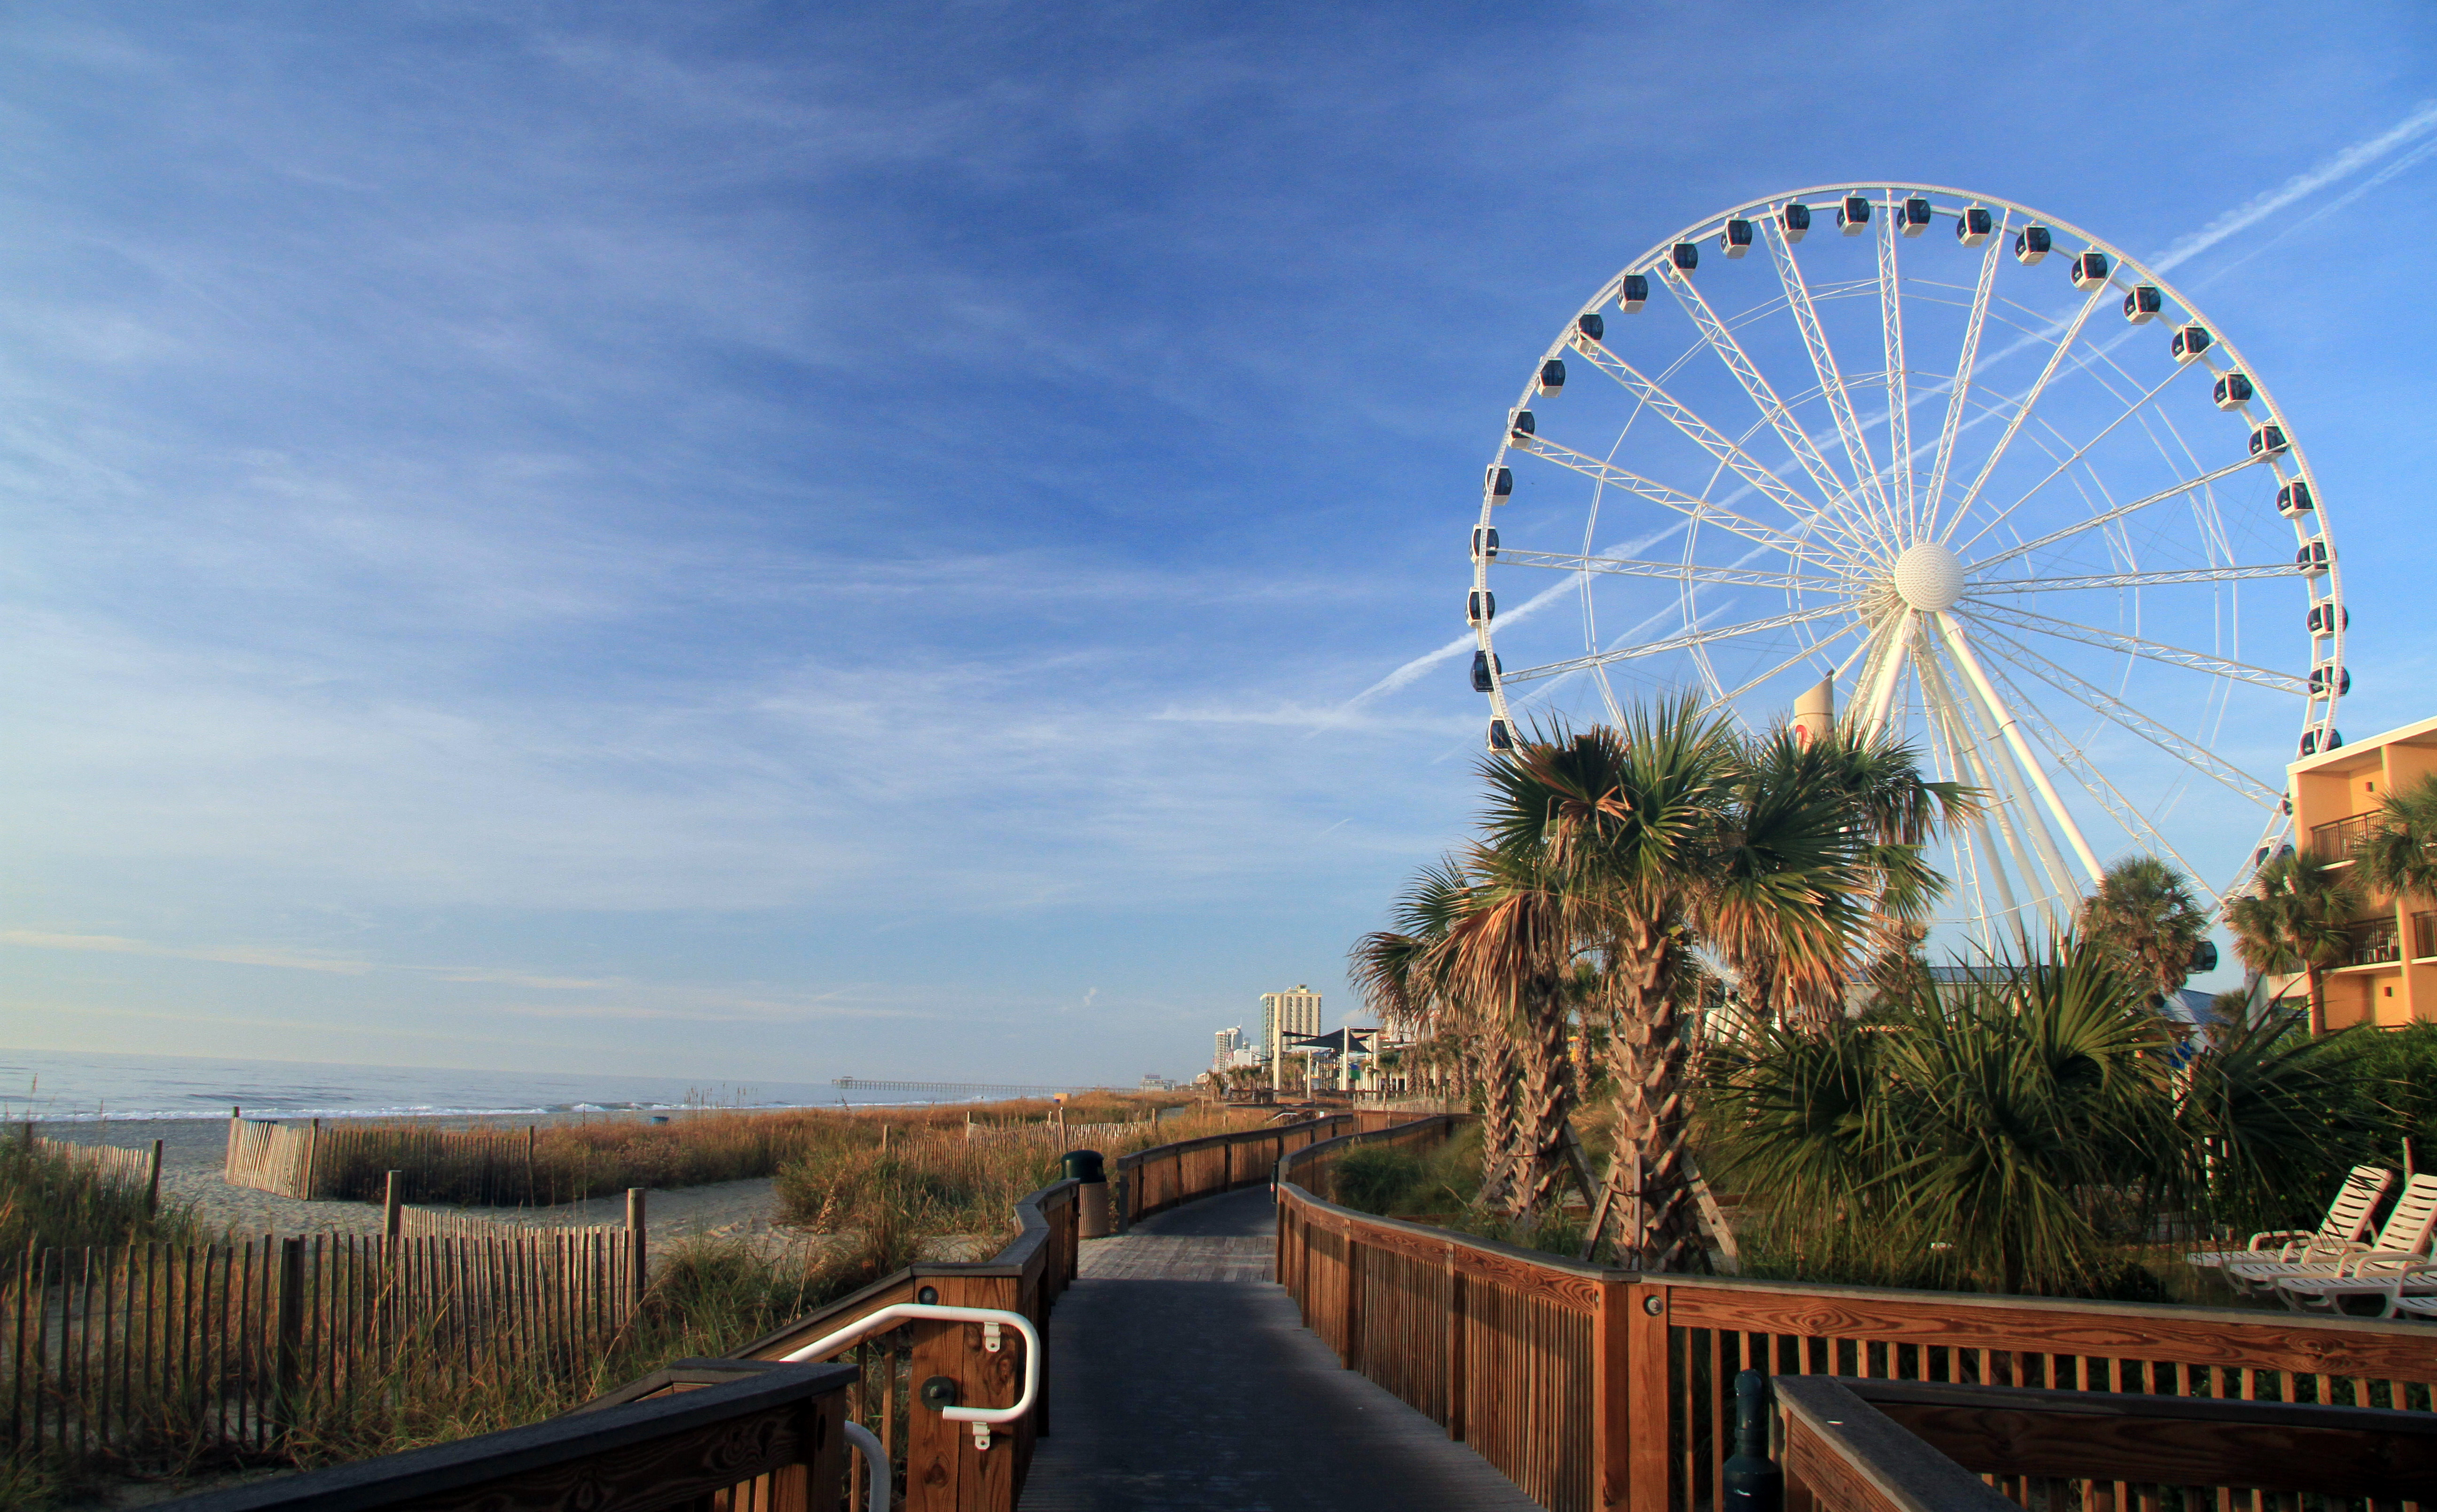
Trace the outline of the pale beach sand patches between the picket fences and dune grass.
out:
[[[431,1117],[434,1129],[524,1129],[526,1124],[575,1124],[575,1122],[636,1122],[648,1114],[612,1112],[558,1112],[558,1114],[483,1114],[483,1117]],[[675,1114],[685,1117],[685,1114]],[[334,1124],[339,1119],[324,1119]],[[397,1122],[397,1119],[383,1119]],[[161,1141],[161,1195],[193,1202],[197,1217],[210,1229],[232,1234],[378,1234],[378,1202],[297,1202],[253,1188],[232,1188],[219,1178],[229,1151],[227,1119],[105,1119],[76,1124],[34,1124],[37,1134],[61,1144],[115,1144],[122,1149],[151,1149]],[[456,1207],[441,1212],[465,1212],[473,1217],[507,1219],[534,1227],[582,1227],[624,1224],[626,1195],[592,1197],[590,1202],[561,1202],[558,1207]],[[646,1246],[653,1256],[668,1253],[685,1239],[746,1239],[755,1249],[780,1256],[804,1251],[814,1244],[836,1244],[833,1236],[790,1229],[775,1222],[777,1200],[773,1183],[724,1180],[699,1188],[653,1190],[643,1200]],[[967,1246],[970,1249],[970,1246]],[[958,1256],[963,1258],[963,1256]]]

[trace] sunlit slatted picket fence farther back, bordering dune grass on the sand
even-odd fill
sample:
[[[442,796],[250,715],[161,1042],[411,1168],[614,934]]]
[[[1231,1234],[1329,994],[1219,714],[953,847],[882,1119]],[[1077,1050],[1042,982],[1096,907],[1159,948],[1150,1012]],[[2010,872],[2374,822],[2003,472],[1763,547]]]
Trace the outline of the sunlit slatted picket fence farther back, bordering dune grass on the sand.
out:
[[[536,1132],[414,1129],[341,1122],[324,1127],[229,1119],[222,1180],[314,1200],[380,1200],[390,1171],[407,1171],[424,1202],[514,1207],[558,1202],[534,1168]]]

